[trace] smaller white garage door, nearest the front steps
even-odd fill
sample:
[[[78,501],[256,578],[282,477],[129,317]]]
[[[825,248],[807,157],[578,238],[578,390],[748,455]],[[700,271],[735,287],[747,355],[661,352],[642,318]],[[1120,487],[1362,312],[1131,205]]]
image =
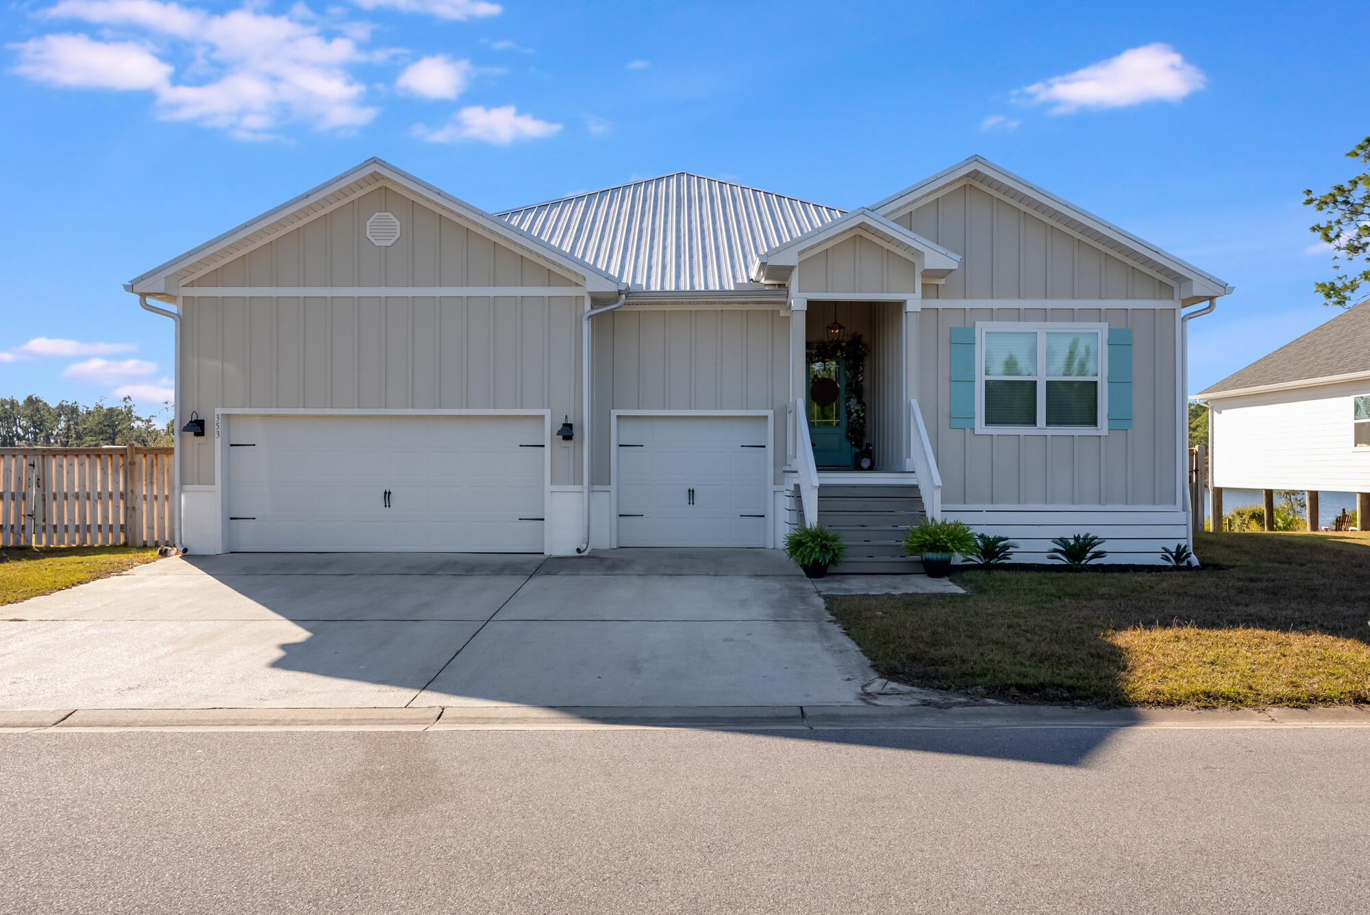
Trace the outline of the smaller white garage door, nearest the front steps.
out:
[[[619,547],[764,547],[764,416],[619,416]]]

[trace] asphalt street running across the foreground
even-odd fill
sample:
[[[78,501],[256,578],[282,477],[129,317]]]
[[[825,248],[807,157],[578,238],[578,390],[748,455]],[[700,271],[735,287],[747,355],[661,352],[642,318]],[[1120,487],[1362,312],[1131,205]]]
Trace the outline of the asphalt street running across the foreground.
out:
[[[1370,729],[10,733],[3,912],[1363,912]]]

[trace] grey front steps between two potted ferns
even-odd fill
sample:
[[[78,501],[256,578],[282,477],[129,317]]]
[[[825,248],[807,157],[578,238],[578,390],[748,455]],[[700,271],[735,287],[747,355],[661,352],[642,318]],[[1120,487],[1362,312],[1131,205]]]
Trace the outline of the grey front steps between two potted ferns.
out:
[[[847,541],[847,559],[829,568],[829,574],[923,573],[922,562],[904,556],[904,534],[927,516],[922,493],[911,478],[912,474],[881,474],[856,482],[843,474],[832,482],[819,481],[818,523],[840,531]]]

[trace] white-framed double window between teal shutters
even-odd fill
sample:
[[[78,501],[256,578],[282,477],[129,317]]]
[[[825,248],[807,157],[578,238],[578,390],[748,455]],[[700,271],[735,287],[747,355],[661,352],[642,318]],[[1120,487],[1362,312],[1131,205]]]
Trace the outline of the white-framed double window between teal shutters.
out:
[[[981,431],[1099,431],[1101,325],[981,323]]]

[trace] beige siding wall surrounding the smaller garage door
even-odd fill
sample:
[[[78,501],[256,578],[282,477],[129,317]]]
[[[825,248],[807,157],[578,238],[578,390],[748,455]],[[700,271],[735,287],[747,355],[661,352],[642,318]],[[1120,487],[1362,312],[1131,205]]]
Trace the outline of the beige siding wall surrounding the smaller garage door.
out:
[[[789,318],[775,307],[625,307],[595,319],[595,485],[610,482],[612,410],[771,410],[785,463]],[[601,444],[603,442],[603,444]]]

